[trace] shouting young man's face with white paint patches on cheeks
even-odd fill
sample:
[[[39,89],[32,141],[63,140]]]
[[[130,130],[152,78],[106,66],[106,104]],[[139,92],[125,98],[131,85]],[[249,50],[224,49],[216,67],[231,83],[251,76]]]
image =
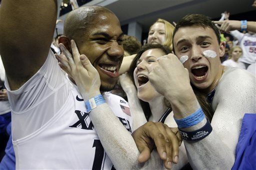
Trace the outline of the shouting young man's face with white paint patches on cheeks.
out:
[[[219,57],[225,52],[224,43],[218,43],[213,29],[181,27],[173,37],[173,46],[178,58],[188,56],[183,65],[189,71],[190,82],[204,93],[213,90],[223,71]]]

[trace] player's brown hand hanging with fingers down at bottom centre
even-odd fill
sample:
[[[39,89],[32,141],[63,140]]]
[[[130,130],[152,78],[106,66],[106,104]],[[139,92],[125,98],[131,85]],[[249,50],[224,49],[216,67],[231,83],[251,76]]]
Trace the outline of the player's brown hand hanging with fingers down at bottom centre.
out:
[[[182,139],[177,128],[169,128],[160,122],[147,122],[132,133],[132,137],[140,152],[139,163],[144,163],[150,158],[150,153],[156,147],[164,166],[171,169],[172,163],[178,161],[178,147]]]

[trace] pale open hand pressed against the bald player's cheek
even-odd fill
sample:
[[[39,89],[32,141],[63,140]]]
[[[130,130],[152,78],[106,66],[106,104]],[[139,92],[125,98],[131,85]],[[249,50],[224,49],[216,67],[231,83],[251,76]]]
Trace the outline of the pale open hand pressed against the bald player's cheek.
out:
[[[100,94],[100,78],[97,70],[91,65],[85,55],[80,55],[78,48],[71,40],[72,54],[59,44],[63,54],[55,55],[59,61],[59,66],[75,81],[83,100],[89,100],[93,96]]]

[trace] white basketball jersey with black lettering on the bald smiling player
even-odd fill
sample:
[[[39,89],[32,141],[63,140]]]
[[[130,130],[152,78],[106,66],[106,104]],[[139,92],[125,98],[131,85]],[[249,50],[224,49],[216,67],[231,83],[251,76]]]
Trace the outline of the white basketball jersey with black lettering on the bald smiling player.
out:
[[[107,169],[112,163],[102,148],[77,87],[61,71],[51,51],[44,65],[22,87],[9,91],[16,169]],[[131,132],[129,109],[119,96],[103,95]],[[114,146],[113,146],[114,147]]]

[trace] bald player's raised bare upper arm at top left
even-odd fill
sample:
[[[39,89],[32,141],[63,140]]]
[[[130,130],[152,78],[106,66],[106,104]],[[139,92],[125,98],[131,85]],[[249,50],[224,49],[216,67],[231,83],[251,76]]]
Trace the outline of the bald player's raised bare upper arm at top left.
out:
[[[2,0],[0,54],[11,90],[44,63],[53,37],[56,0]]]

